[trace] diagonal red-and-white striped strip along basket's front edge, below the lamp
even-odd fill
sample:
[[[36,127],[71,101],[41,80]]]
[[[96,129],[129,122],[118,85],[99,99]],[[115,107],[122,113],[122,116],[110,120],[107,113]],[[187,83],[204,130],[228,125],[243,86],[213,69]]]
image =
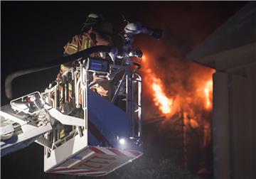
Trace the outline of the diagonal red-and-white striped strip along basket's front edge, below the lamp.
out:
[[[103,148],[90,146],[90,150],[94,151],[95,153],[103,153],[111,156],[125,156],[131,158],[138,158],[139,156],[142,156],[142,152],[139,151],[119,150],[117,148]]]

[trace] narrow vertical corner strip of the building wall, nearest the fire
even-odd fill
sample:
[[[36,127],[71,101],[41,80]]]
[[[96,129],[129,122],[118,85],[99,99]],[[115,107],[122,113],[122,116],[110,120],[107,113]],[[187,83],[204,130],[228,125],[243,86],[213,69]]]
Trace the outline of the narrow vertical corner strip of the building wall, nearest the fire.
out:
[[[213,75],[213,174],[230,178],[228,73]]]

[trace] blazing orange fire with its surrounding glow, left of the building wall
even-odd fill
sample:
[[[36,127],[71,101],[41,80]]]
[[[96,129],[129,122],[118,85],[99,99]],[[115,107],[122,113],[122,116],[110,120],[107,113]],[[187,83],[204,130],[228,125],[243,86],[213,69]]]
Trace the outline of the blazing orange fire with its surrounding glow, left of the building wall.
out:
[[[209,119],[210,110],[213,107],[212,75],[215,70],[206,70],[192,65],[186,69],[191,70],[189,72],[178,71],[176,69],[180,64],[174,63],[176,68],[172,68],[173,72],[171,69],[163,72],[159,70],[157,63],[154,64],[154,61],[146,56],[142,58],[142,65],[144,87],[153,99],[154,106],[166,116],[163,122],[172,121],[178,116],[183,119],[183,124],[187,129],[203,131],[202,146],[206,146],[210,141]],[[198,69],[193,69],[193,67],[198,67]]]

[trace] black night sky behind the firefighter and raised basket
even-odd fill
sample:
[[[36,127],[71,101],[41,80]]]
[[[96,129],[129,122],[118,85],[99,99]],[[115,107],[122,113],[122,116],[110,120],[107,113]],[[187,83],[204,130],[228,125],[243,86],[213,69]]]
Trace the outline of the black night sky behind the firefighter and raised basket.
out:
[[[129,21],[162,28],[161,42],[181,58],[244,6],[242,1],[1,1],[1,106],[9,100],[4,80],[16,70],[63,55],[63,46],[80,33],[89,13],[101,13],[114,30],[123,28],[122,14]],[[145,45],[138,36],[136,45]],[[140,41],[141,40],[141,41]],[[156,54],[156,56],[159,54]],[[163,69],[165,70],[165,69]],[[42,91],[55,80],[58,68],[14,80],[14,97]],[[42,75],[43,74],[43,75]],[[146,135],[146,131],[144,131]],[[43,147],[32,144],[1,158],[2,178],[55,178],[43,173]]]

